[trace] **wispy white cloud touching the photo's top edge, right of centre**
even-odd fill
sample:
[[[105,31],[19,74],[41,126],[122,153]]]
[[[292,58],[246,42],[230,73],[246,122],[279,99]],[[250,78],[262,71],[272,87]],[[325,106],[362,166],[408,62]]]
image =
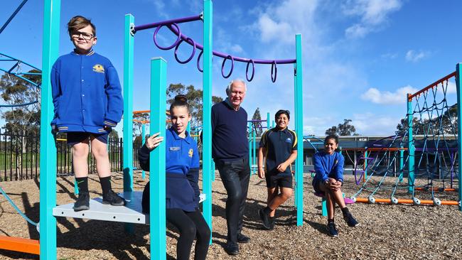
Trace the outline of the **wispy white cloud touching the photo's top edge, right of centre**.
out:
[[[388,22],[388,16],[401,9],[400,0],[351,0],[343,5],[347,16],[360,16],[360,22],[345,30],[348,38],[362,38],[367,33],[378,31]]]

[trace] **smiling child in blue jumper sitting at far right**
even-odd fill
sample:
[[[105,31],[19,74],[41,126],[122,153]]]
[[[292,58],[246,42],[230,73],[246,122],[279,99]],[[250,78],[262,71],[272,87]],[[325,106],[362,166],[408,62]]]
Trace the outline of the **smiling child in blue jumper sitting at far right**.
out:
[[[345,159],[335,151],[337,147],[338,136],[326,136],[326,139],[324,139],[324,151],[319,151],[313,156],[314,170],[316,171],[313,178],[313,188],[316,193],[326,196],[327,228],[331,237],[338,237],[334,222],[335,203],[340,206],[343,218],[349,227],[358,225],[358,221],[348,211],[345,200],[343,200],[343,193],[340,190],[343,184],[343,163]]]

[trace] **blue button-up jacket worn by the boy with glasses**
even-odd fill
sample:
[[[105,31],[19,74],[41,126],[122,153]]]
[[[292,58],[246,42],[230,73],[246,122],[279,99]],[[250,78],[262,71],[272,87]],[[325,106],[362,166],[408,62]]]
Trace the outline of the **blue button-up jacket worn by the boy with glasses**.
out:
[[[122,118],[119,77],[109,59],[95,53],[63,55],[51,69],[51,92],[58,131],[104,134]]]

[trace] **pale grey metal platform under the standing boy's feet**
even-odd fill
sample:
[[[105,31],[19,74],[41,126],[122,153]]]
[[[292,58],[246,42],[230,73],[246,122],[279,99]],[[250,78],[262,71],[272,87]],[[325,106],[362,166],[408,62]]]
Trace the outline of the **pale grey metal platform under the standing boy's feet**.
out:
[[[55,217],[75,217],[88,220],[106,220],[113,222],[127,222],[137,224],[149,224],[149,215],[141,213],[141,191],[124,192],[119,194],[127,201],[124,206],[112,206],[102,204],[102,197],[90,199],[90,210],[75,212],[74,203],[60,205],[53,208]]]

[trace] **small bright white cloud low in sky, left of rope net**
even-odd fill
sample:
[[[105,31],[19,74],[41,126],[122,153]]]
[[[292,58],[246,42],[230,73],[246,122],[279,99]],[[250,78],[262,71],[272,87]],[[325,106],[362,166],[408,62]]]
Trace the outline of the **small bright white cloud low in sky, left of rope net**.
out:
[[[400,87],[395,92],[377,90],[375,87],[371,87],[364,94],[361,95],[361,99],[370,101],[376,104],[402,104],[406,102],[407,93],[417,92],[415,87],[407,85],[406,87]]]

